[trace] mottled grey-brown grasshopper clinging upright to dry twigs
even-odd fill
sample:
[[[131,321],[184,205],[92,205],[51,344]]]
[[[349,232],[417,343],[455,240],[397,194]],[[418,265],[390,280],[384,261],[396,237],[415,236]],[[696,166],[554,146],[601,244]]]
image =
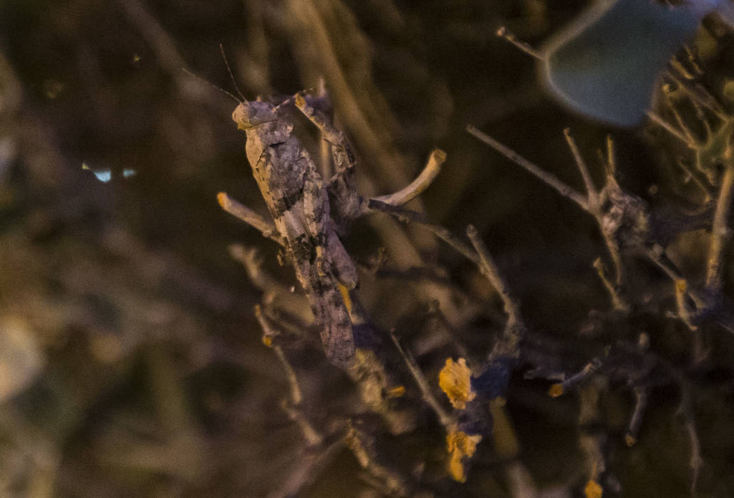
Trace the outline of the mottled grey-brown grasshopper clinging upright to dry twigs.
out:
[[[326,122],[304,95],[297,94],[294,99],[297,107],[323,131]],[[293,122],[282,111],[290,101],[276,106],[241,100],[232,119],[247,135],[245,148],[252,174],[321,329],[327,358],[334,365],[347,367],[355,355],[349,290],[357,285],[357,270],[339,239],[329,191],[308,151],[292,134]],[[339,142],[333,144],[338,173],[332,183],[341,191],[338,198],[351,197],[353,201],[358,196],[350,188],[352,155],[347,153],[343,137],[333,138]],[[345,194],[346,191],[352,194]]]

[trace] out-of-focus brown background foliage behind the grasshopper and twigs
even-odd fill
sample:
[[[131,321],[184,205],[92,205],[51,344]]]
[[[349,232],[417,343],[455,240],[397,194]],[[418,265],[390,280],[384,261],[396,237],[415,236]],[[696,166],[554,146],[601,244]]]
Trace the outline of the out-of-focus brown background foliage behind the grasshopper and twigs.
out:
[[[443,172],[413,207],[457,234],[475,224],[528,326],[567,341],[568,370],[583,365],[587,339],[577,348],[578,328],[589,310],[608,306],[592,270],[604,251],[594,225],[464,129],[476,125],[582,188],[562,129],[572,128],[589,158],[611,130],[548,98],[534,61],[495,31],[508,26],[538,46],[585,6],[0,0],[0,496],[279,496],[294,465],[300,436],[280,409],[288,386],[252,312],[260,292],[228,245],[258,246],[268,271],[296,282],[277,265],[275,244],[217,206],[217,192],[228,191],[265,213],[244,134],[230,120],[234,103],[183,72],[233,91],[219,43],[246,98],[291,95],[324,78],[357,152],[363,194],[401,188],[433,147],[446,150]],[[705,29],[713,40],[707,81],[721,93],[733,76],[733,39],[720,26]],[[317,157],[316,134],[304,120],[298,127]],[[651,202],[680,203],[668,137],[652,127],[613,132],[625,186]],[[107,170],[108,183],[94,175]],[[346,243],[360,262],[384,246],[397,270],[439,261],[487,308],[464,334],[480,351],[491,348],[487,323],[502,320],[498,299],[427,232],[383,216],[359,224]],[[700,240],[681,243],[692,248],[684,265],[698,268]],[[409,329],[431,298],[385,278],[367,282],[363,299],[385,328]],[[441,305],[460,321],[460,307]],[[670,358],[688,354],[679,324],[648,332]],[[713,358],[696,414],[702,482],[707,496],[724,497],[734,493],[733,343],[720,330],[708,341]],[[435,365],[425,367],[435,381]],[[326,386],[338,400],[344,378],[331,374],[305,391]],[[577,406],[547,389],[518,375],[508,410],[539,488],[565,490],[583,467]],[[639,444],[617,443],[624,496],[688,496],[678,398],[675,389],[655,392]],[[605,400],[602,423],[618,438],[631,403],[625,393]],[[442,468],[443,442],[431,453],[420,441],[400,444]],[[302,496],[374,496],[354,458],[340,454]],[[446,485],[447,496],[509,496],[501,467],[485,458],[472,471],[481,478]]]

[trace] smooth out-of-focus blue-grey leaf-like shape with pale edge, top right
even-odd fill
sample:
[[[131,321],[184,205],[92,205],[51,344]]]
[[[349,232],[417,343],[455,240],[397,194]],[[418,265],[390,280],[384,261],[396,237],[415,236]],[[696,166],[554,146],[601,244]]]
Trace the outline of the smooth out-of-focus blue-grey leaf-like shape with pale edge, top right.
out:
[[[634,126],[650,108],[658,74],[693,37],[707,9],[652,0],[593,8],[553,40],[544,76],[559,100],[613,125]]]

